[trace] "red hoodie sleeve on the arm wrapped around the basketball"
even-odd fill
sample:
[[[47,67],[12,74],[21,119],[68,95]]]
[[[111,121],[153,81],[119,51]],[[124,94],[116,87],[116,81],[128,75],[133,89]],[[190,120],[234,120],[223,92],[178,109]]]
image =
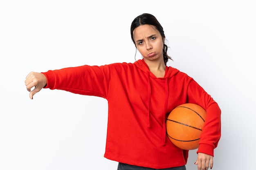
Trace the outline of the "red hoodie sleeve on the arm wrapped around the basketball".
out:
[[[193,79],[188,87],[188,103],[202,106],[206,110],[206,119],[200,136],[198,152],[213,156],[221,135],[221,110],[213,98]]]

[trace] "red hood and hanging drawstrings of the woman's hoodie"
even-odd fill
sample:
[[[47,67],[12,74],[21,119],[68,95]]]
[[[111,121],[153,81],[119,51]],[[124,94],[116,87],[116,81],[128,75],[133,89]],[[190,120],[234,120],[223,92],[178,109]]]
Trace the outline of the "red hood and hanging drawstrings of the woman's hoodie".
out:
[[[150,84],[150,78],[151,79],[162,79],[165,81],[165,95],[164,95],[164,112],[163,112],[163,120],[162,120],[162,145],[165,145],[166,140],[166,114],[167,113],[167,104],[168,104],[168,96],[169,96],[169,88],[168,88],[168,79],[171,79],[173,75],[176,75],[179,70],[176,68],[168,67],[166,66],[164,77],[157,78],[152,72],[150,72],[148,65],[142,60],[138,60],[135,62],[135,65],[140,68],[144,73],[146,73],[148,78],[148,85],[147,85],[147,91],[148,91],[148,120],[147,120],[147,126],[150,128],[150,101],[151,101],[151,84]]]

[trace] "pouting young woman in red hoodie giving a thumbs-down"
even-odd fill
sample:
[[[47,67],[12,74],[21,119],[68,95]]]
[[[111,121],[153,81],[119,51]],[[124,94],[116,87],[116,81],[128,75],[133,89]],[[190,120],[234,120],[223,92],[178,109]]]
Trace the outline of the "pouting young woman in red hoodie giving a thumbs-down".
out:
[[[185,170],[188,150],[177,148],[166,137],[165,122],[176,106],[198,104],[207,111],[207,118],[195,164],[198,170],[212,168],[213,150],[220,139],[218,104],[193,78],[166,66],[171,57],[163,28],[153,15],[139,15],[130,31],[142,60],[31,72],[25,80],[29,97],[50,88],[107,99],[104,157],[118,161],[118,170]]]

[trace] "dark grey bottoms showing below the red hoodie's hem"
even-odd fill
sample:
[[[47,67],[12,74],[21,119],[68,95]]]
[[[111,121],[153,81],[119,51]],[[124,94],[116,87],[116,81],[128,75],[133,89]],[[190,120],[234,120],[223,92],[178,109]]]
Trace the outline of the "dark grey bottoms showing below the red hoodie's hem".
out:
[[[141,166],[134,166],[134,165],[129,165],[126,163],[119,162],[117,170],[186,170],[186,166],[179,166],[179,167],[166,168],[166,169],[153,169],[153,168],[145,168]]]

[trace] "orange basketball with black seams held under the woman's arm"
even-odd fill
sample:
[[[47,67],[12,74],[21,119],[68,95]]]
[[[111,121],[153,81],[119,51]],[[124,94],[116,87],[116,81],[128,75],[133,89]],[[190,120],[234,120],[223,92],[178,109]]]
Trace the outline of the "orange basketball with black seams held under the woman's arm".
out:
[[[206,111],[197,104],[186,103],[174,108],[166,120],[166,133],[178,148],[194,150],[199,147]]]

